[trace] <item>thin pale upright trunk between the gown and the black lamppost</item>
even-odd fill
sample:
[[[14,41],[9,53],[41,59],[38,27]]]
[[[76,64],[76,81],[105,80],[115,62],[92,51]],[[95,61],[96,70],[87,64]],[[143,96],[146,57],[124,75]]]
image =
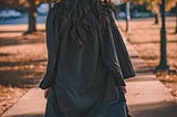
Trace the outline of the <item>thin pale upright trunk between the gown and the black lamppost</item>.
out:
[[[126,32],[129,31],[129,20],[131,20],[131,2],[126,3]]]

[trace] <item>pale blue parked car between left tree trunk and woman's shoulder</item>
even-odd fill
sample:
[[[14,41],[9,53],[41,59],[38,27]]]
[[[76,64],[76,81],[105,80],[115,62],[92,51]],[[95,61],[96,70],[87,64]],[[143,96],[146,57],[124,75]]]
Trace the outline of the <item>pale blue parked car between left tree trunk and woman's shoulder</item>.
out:
[[[38,8],[37,8],[37,12],[40,15],[45,15],[49,11],[49,3],[41,3]]]

